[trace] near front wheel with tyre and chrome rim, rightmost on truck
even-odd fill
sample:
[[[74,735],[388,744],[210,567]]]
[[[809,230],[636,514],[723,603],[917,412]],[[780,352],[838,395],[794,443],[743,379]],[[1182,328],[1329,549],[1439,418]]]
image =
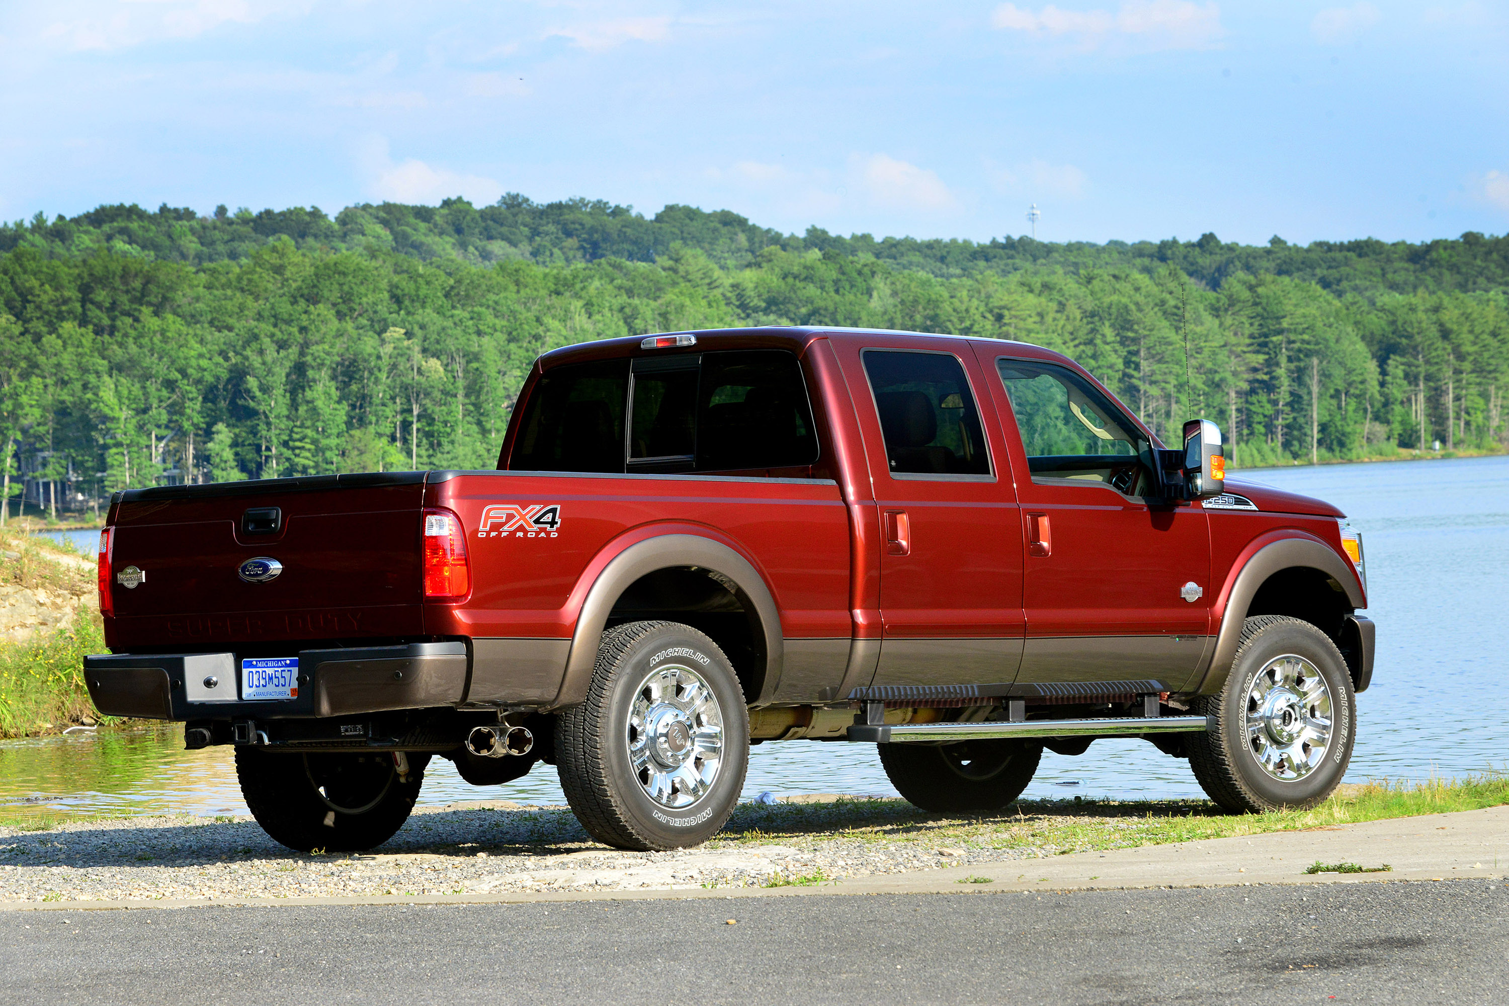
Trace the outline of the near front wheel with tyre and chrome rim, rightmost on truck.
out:
[[[1352,676],[1335,643],[1299,618],[1248,618],[1225,686],[1197,710],[1210,728],[1188,735],[1189,766],[1233,813],[1314,807],[1352,760]]]

